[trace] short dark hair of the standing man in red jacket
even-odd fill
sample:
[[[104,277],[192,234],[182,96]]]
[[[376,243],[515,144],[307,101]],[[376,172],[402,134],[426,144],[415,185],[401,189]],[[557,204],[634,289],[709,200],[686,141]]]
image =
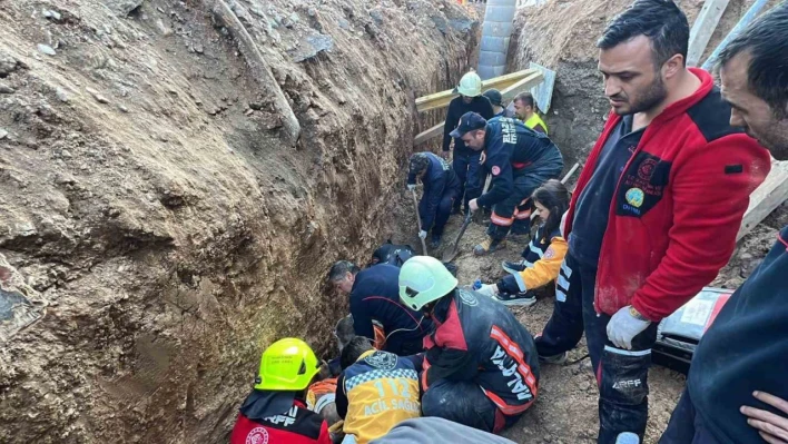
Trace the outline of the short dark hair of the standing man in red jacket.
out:
[[[656,69],[677,53],[687,62],[689,22],[672,0],[636,0],[608,23],[597,48],[611,49],[638,36],[651,41]]]

